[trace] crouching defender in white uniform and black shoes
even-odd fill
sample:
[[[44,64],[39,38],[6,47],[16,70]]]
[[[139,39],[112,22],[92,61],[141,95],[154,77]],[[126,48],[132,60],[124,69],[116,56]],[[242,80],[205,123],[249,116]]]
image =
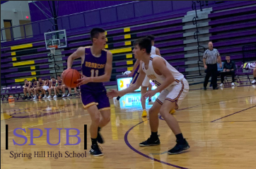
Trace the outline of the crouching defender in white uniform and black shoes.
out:
[[[175,134],[177,141],[177,144],[168,151],[168,154],[178,154],[187,150],[190,146],[183,138],[177,120],[169,113],[170,110],[178,109],[182,100],[186,97],[189,91],[187,80],[163,57],[150,54],[151,40],[149,38],[144,37],[136,40],[133,52],[135,58],[141,59],[143,62],[136,83],[122,91],[111,90],[107,93],[108,97],[122,97],[122,95],[135,91],[141,86],[145,76],[148,76],[157,85],[157,88],[154,91],[148,91],[144,98],[151,98],[158,92],[161,92],[161,94],[149,110],[151,136],[146,141],[141,142],[139,146],[156,146],[160,144],[158,138],[158,112],[160,112],[165,122]]]

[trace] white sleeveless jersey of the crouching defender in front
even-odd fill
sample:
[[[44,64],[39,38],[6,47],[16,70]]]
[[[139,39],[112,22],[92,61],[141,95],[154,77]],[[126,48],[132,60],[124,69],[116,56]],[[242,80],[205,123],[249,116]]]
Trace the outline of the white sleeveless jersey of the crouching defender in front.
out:
[[[152,60],[153,60],[154,57],[160,57],[160,56],[158,56],[156,54],[151,54],[151,57],[150,57],[150,60],[149,60],[149,69],[147,69],[147,70],[145,69],[145,64],[143,62],[142,70],[145,72],[146,76],[148,76],[153,81],[153,83],[156,84],[156,86],[160,86],[161,83],[163,83],[163,81],[165,81],[165,76],[158,75],[153,70]],[[161,57],[161,58],[164,59],[163,57]],[[165,63],[166,63],[167,68],[173,74],[173,77],[175,79],[175,81],[173,83],[171,83],[169,86],[176,85],[176,84],[178,84],[180,81],[182,81],[184,79],[184,75],[183,74],[180,74],[180,72],[177,71],[173,66],[171,66],[166,60],[165,60]]]

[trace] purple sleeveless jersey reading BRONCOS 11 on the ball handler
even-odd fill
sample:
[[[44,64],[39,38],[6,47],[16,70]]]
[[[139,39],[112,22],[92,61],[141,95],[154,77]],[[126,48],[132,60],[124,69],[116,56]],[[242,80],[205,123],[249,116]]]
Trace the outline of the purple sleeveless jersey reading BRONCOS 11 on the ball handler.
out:
[[[85,59],[82,64],[82,73],[87,77],[103,76],[105,74],[105,64],[107,62],[107,50],[101,51],[100,57],[94,57],[91,54],[91,48],[85,48]],[[84,84],[85,88],[101,88],[103,87],[102,82],[91,82]]]

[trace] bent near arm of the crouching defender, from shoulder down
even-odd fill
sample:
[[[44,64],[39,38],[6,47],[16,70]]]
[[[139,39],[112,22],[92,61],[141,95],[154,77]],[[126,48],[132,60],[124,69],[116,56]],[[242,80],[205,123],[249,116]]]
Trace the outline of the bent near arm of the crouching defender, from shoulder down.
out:
[[[161,83],[161,86],[158,86],[156,90],[154,90],[155,93],[158,93],[163,91],[163,89],[167,88],[171,83],[173,83],[175,79],[173,77],[173,74],[167,68],[165,61],[160,57],[154,58],[152,64],[153,64],[153,69],[158,70],[165,77],[165,81]]]

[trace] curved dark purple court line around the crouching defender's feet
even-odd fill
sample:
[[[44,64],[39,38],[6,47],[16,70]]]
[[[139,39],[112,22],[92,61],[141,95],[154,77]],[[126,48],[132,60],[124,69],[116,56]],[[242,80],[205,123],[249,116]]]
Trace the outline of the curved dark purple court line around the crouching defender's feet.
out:
[[[149,119],[148,119],[148,120],[149,120]],[[151,159],[151,160],[153,160],[153,161],[157,161],[157,162],[159,162],[159,163],[163,163],[163,164],[166,164],[166,165],[170,165],[170,166],[175,167],[175,168],[188,169],[188,168],[180,167],[180,166],[178,166],[178,165],[174,165],[174,164],[171,164],[171,163],[167,163],[167,162],[165,162],[165,161],[160,161],[160,160],[158,160],[158,159],[156,159],[156,158],[153,158],[153,157],[151,157],[151,156],[147,156],[146,154],[141,153],[140,151],[136,150],[136,148],[134,148],[131,144],[129,144],[129,141],[128,141],[128,134],[129,134],[129,132],[130,132],[134,127],[136,127],[137,125],[139,125],[139,124],[141,124],[141,123],[143,123],[143,122],[146,122],[146,121],[148,121],[148,120],[144,120],[144,121],[142,121],[142,122],[139,122],[138,124],[136,124],[135,126],[133,126],[132,128],[130,128],[130,129],[124,134],[124,141],[125,141],[125,144],[127,144],[127,146],[128,146],[129,148],[131,148],[132,151],[134,151],[134,152],[136,152],[136,153],[139,153],[139,155],[144,156],[144,157],[146,157],[146,158],[149,158],[149,159]]]

